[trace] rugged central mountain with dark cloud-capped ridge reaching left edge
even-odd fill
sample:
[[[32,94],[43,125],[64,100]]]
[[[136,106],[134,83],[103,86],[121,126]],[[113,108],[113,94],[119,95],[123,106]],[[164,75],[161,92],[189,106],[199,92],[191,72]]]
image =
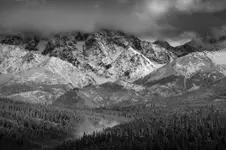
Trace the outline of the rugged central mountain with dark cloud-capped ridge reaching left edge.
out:
[[[3,38],[2,42],[14,45],[14,38],[19,38],[20,45],[25,47],[32,40],[37,41],[34,37],[30,38],[32,40],[24,40],[29,38],[9,36]],[[60,58],[73,64],[83,73],[88,73],[93,78],[102,78],[101,80],[107,82],[118,79],[134,81],[176,57],[167,49],[143,42],[135,36],[106,29],[92,34],[81,32],[57,34],[39,39],[39,43],[33,45],[33,49],[29,50],[38,49],[43,55]],[[98,82],[101,83],[103,82]]]

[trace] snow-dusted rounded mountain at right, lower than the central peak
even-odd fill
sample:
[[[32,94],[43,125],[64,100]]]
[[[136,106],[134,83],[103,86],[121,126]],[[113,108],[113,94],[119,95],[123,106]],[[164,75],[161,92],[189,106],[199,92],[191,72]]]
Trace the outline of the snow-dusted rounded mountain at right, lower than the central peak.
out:
[[[195,52],[177,58],[134,82],[163,97],[205,88],[225,77],[222,62],[214,60],[222,52]],[[221,54],[223,56],[223,54]],[[221,64],[220,64],[221,63]]]

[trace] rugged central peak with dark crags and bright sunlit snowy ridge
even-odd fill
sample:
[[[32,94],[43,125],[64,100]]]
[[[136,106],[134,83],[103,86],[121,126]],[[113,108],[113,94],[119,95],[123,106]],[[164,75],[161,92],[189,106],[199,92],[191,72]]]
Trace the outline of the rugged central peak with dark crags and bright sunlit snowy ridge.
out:
[[[64,45],[61,47],[63,53],[54,49],[50,54],[64,60],[62,56],[67,56],[68,62],[102,80],[134,81],[175,58],[166,49],[153,50],[152,44],[148,44],[151,47],[145,47],[140,39],[119,31],[100,30],[84,42],[74,44],[74,48]]]

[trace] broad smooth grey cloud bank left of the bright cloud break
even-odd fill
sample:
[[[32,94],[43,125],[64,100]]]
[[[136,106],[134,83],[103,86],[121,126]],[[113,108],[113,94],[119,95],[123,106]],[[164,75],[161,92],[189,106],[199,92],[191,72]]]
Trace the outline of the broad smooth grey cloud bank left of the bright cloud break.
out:
[[[133,15],[127,1],[17,1],[0,14],[4,28],[44,32],[115,28],[128,32],[142,32],[149,26]],[[125,9],[126,8],[126,9]],[[133,8],[132,8],[133,9]]]

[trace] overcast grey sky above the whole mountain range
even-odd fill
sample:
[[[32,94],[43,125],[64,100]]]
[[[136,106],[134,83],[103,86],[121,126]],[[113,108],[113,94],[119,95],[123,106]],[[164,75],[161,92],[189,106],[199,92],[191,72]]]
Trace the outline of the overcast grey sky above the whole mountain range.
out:
[[[226,29],[226,0],[0,0],[3,31],[119,29],[143,39],[186,41]]]

